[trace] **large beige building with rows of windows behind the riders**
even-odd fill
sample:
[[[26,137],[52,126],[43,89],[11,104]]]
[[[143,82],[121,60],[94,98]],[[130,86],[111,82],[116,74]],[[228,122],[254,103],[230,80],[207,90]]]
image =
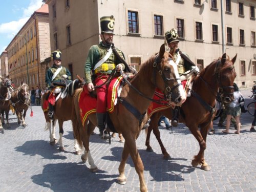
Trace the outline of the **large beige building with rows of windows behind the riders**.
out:
[[[92,45],[100,42],[101,16],[114,15],[114,44],[136,69],[164,43],[172,28],[179,47],[200,69],[227,53],[235,63],[239,87],[256,80],[255,0],[48,0],[51,50],[62,51],[62,65],[84,76]]]

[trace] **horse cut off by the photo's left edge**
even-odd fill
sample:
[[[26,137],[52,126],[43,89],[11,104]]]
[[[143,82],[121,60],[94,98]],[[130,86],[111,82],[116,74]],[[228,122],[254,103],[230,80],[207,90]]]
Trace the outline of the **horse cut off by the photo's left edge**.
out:
[[[9,78],[0,79],[0,130],[4,133],[3,125],[5,124],[4,113],[6,115],[7,127],[9,127],[9,111],[10,111],[10,98],[11,98],[11,80]]]

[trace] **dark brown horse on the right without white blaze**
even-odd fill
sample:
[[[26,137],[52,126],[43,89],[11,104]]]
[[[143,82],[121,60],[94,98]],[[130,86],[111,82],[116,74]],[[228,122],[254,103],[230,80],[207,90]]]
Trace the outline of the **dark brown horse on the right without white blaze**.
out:
[[[206,149],[206,137],[212,119],[215,116],[216,96],[218,90],[222,96],[222,102],[231,102],[233,100],[233,81],[236,78],[234,70],[234,62],[237,55],[232,59],[228,55],[223,54],[221,58],[210,63],[204,68],[200,75],[196,77],[191,96],[187,97],[182,104],[179,115],[179,122],[185,123],[190,132],[195,136],[199,142],[200,151],[194,157],[191,164],[196,167],[201,165],[203,170],[210,170],[210,166],[204,159],[204,151]],[[170,159],[169,154],[161,141],[160,132],[158,130],[158,120],[160,116],[164,115],[172,119],[172,111],[170,108],[165,108],[162,111],[153,113],[151,116],[150,126],[147,129],[147,136],[145,145],[146,151],[152,152],[150,145],[150,134],[153,130],[159,145],[161,146],[164,159]],[[198,127],[200,126],[200,131]]]

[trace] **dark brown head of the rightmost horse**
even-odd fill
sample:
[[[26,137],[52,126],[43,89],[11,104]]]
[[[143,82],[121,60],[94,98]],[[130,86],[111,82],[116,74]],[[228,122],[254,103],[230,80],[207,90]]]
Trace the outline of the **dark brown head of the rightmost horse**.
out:
[[[218,60],[216,66],[216,79],[219,84],[219,93],[221,94],[222,102],[230,103],[234,100],[233,92],[233,82],[237,76],[236,71],[234,71],[234,62],[236,62],[237,54],[229,59],[229,56],[224,53],[221,59]]]

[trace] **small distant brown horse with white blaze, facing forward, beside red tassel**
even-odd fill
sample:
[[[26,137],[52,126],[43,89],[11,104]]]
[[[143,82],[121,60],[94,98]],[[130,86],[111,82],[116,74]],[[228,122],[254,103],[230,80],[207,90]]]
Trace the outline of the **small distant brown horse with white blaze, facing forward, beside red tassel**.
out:
[[[26,127],[25,117],[30,106],[29,86],[25,82],[20,84],[16,91],[11,93],[11,103],[17,115],[17,123]]]

